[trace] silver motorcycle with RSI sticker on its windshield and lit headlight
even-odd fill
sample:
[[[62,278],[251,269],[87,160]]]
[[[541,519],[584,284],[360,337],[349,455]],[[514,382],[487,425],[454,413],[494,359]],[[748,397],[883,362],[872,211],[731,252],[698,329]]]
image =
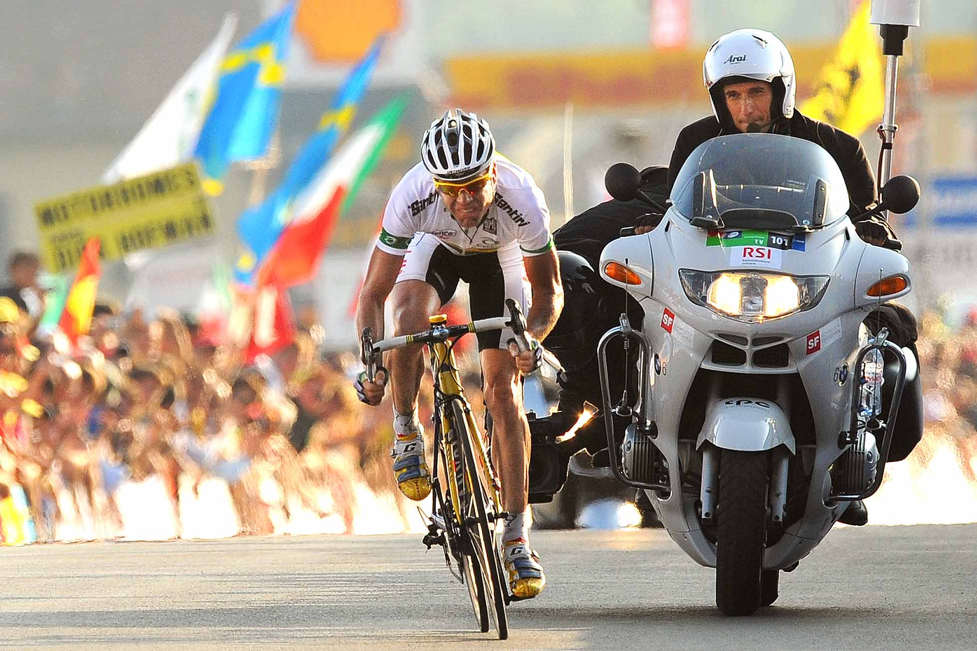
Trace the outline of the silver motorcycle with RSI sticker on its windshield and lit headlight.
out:
[[[641,196],[626,163],[606,182],[615,198]],[[875,212],[907,212],[918,197],[912,178],[894,177]],[[863,322],[910,291],[910,268],[898,240],[858,237],[837,164],[804,140],[707,141],[671,202],[649,199],[658,227],[600,258],[601,278],[645,315],[632,326],[625,309],[597,347],[609,465],[716,569],[719,609],[747,615],[881,483],[916,360]],[[610,369],[617,344],[637,363]],[[612,379],[633,388],[614,396]]]

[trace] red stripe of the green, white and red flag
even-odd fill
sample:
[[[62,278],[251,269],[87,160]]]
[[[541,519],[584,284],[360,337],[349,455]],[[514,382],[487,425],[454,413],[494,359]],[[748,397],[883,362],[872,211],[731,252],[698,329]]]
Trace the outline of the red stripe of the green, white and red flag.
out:
[[[291,223],[278,236],[275,248],[258,270],[257,285],[276,284],[280,289],[309,282],[319,269],[319,259],[332,238],[339,208],[346,192],[336,188],[332,198],[313,219]]]

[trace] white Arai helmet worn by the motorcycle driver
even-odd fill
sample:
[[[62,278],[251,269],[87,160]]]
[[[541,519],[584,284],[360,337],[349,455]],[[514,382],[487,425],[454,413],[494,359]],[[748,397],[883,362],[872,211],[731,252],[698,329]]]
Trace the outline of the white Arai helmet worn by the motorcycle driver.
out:
[[[720,123],[729,116],[723,99],[723,84],[720,81],[732,77],[768,81],[774,87],[774,106],[771,113],[786,118],[793,115],[794,96],[797,86],[794,78],[793,60],[781,39],[763,29],[737,29],[724,34],[709,46],[702,62],[702,79],[709,91],[712,112]]]

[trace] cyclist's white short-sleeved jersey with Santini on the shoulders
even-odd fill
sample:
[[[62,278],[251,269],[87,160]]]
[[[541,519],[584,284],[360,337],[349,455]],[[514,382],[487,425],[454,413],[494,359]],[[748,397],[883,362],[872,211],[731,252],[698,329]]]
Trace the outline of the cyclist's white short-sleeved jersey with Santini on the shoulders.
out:
[[[377,247],[404,255],[416,234],[429,233],[456,255],[490,253],[518,246],[526,256],[553,247],[549,208],[532,175],[495,154],[495,198],[478,226],[463,229],[448,212],[422,163],[414,165],[394,188],[383,213]]]

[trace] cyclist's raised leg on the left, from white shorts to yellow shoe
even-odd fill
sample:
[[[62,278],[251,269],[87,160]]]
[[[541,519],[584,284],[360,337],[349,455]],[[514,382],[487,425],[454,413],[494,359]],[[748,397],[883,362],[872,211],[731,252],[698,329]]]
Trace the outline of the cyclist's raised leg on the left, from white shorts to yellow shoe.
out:
[[[411,241],[390,294],[395,336],[426,329],[428,317],[454,293],[457,278],[452,283],[450,273],[438,271],[445,266],[439,262],[445,254],[450,255],[432,236],[422,234]],[[418,344],[393,350],[387,359],[395,413],[394,475],[401,492],[410,499],[424,499],[431,492],[423,427],[417,418],[423,355],[423,345]]]

